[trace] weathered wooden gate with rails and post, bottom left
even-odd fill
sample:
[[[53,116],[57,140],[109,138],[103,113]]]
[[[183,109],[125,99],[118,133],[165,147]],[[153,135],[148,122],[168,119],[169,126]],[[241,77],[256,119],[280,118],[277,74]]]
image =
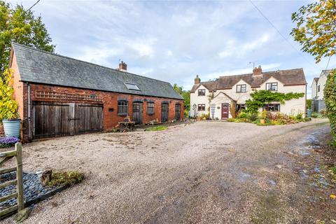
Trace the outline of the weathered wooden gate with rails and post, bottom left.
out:
[[[0,184],[0,189],[7,188],[8,186],[16,185],[16,193],[5,195],[0,197],[0,202],[6,202],[16,197],[16,204],[12,207],[0,209],[0,220],[12,214],[15,211],[20,211],[25,208],[25,197],[23,192],[23,173],[22,173],[22,146],[20,143],[15,144],[15,151],[7,151],[0,153],[0,167],[3,163],[10,160],[10,158],[16,158],[16,167],[0,169],[0,174],[7,174],[10,172],[16,172],[16,179],[6,181]]]

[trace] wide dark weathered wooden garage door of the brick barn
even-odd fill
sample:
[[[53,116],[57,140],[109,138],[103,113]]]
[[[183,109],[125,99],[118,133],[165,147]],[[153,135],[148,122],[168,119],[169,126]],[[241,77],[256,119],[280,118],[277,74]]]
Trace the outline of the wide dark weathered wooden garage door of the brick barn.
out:
[[[34,139],[102,130],[102,105],[33,102]]]

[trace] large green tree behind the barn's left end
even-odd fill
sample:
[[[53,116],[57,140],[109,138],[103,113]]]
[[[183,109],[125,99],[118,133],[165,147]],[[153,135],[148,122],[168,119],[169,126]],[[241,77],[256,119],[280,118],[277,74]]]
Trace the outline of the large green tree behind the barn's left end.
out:
[[[48,34],[41,17],[35,17],[31,10],[23,6],[10,8],[0,0],[0,74],[8,67],[11,42],[28,45],[48,52],[54,52],[55,45],[50,44]]]

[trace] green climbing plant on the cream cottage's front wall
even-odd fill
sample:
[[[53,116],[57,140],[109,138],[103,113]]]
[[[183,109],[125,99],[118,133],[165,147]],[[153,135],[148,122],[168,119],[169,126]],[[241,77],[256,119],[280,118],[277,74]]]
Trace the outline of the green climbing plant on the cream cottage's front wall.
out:
[[[269,90],[255,90],[251,93],[252,99],[246,101],[246,111],[257,113],[264,104],[271,102],[279,102],[284,104],[290,99],[300,99],[304,97],[304,92],[271,92]]]

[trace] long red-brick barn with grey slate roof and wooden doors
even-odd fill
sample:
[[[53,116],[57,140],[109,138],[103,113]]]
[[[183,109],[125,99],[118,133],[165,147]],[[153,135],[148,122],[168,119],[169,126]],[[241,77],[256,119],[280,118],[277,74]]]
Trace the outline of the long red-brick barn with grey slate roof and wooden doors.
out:
[[[129,115],[137,125],[183,118],[169,83],[13,43],[10,55],[22,139],[109,131]]]

